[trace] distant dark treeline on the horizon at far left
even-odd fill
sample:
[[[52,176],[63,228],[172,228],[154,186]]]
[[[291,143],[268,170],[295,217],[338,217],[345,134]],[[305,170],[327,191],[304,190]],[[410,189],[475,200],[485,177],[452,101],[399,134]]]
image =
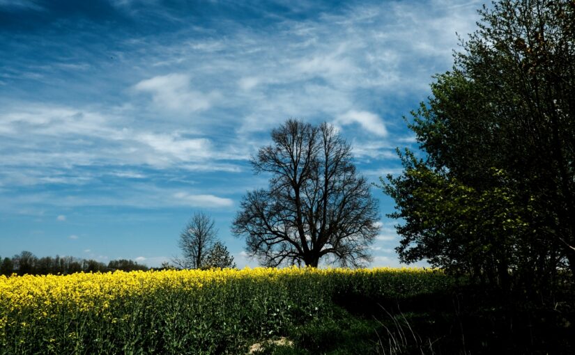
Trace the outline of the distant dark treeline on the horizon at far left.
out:
[[[107,272],[107,271],[134,271],[148,270],[146,265],[140,265],[133,260],[111,260],[106,265],[96,260],[85,260],[72,256],[58,256],[52,258],[45,256],[38,258],[29,251],[14,255],[12,258],[3,258],[0,263],[0,274],[10,276],[18,275],[48,275],[48,274],[73,274],[75,272]]]

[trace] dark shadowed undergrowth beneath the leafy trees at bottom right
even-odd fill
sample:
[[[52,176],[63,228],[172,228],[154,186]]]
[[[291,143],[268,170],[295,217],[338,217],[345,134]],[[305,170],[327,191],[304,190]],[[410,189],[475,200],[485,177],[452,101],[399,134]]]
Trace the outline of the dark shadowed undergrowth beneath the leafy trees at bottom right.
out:
[[[404,299],[342,294],[265,354],[575,354],[575,293],[538,303],[478,286]]]

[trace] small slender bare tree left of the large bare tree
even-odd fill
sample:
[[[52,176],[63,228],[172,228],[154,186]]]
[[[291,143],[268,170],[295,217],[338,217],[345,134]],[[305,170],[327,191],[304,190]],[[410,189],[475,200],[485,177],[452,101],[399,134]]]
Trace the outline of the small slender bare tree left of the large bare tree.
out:
[[[196,212],[187,222],[178,242],[183,258],[174,258],[174,264],[185,269],[201,269],[206,256],[216,241],[214,221],[204,212]]]

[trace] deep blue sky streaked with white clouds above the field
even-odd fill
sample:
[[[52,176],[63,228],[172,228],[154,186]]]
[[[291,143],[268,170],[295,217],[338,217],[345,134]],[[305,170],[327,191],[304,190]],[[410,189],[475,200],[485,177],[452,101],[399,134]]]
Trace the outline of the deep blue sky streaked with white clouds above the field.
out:
[[[328,122],[369,182],[417,149],[404,117],[452,68],[480,1],[0,0],[0,256],[180,255],[196,211],[231,223],[250,157],[289,118]],[[371,266],[400,266],[380,200]],[[424,264],[421,264],[424,265]]]

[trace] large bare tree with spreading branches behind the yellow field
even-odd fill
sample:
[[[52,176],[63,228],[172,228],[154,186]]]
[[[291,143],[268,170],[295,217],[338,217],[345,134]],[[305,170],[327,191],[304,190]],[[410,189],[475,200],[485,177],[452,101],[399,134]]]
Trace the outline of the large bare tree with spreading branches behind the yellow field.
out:
[[[324,256],[340,265],[371,260],[378,203],[352,162],[351,146],[332,125],[288,120],[273,145],[252,157],[255,173],[270,173],[268,189],[248,192],[232,232],[263,265],[317,267]]]

